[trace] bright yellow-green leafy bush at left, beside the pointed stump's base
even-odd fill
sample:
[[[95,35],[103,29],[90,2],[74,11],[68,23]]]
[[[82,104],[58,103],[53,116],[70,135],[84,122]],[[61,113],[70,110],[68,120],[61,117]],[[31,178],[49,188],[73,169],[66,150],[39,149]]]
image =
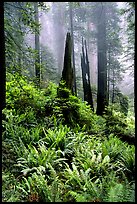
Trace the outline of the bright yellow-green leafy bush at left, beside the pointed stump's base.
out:
[[[56,96],[55,84],[49,82],[45,90],[38,90],[33,82],[28,83],[25,77],[18,74],[13,76],[8,73],[7,80],[6,107],[8,109],[15,109],[17,114],[25,114],[26,119],[31,120],[32,118],[35,123],[35,118],[41,120],[41,117],[45,117],[46,111],[48,111],[46,104],[52,104]]]

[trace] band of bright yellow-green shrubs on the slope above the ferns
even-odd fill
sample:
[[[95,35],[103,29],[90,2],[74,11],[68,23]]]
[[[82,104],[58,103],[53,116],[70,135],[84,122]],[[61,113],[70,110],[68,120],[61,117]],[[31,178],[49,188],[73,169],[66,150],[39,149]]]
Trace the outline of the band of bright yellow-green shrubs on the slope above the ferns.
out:
[[[46,116],[55,116],[71,127],[85,125],[87,131],[93,129],[92,132],[97,133],[102,125],[103,131],[104,119],[96,116],[86,102],[73,96],[63,82],[58,89],[50,82],[45,90],[37,90],[32,82],[28,83],[25,77],[17,74],[8,74],[7,80],[7,108],[15,109],[17,114],[22,114],[22,118],[24,114],[24,123],[29,124],[35,118],[37,123],[38,120],[46,119]]]

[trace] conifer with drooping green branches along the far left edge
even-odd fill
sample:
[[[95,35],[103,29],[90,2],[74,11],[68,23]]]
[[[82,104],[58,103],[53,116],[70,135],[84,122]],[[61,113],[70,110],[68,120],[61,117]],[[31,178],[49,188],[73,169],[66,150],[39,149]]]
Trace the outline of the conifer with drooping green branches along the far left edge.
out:
[[[21,29],[23,24],[21,9],[24,9],[21,2],[14,2],[13,4],[11,4],[10,2],[4,3],[6,66],[8,71],[16,71],[18,73],[21,73],[20,59],[23,50],[22,42],[24,38],[24,33]]]

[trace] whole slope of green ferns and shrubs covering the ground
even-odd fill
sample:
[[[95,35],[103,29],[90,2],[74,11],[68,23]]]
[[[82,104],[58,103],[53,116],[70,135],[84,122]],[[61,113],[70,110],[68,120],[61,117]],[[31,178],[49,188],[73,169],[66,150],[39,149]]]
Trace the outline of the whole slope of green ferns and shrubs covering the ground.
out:
[[[62,81],[38,89],[7,73],[3,202],[135,202],[134,118],[97,116]]]

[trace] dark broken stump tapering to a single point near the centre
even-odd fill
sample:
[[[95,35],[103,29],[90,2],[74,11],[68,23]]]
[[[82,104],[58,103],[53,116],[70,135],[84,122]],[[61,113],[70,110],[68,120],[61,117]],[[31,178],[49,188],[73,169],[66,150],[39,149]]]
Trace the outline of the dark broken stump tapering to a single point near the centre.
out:
[[[70,33],[67,33],[66,37],[66,47],[64,55],[64,66],[62,71],[61,80],[65,81],[66,87],[70,89],[73,93],[73,68],[71,62],[71,36]]]

